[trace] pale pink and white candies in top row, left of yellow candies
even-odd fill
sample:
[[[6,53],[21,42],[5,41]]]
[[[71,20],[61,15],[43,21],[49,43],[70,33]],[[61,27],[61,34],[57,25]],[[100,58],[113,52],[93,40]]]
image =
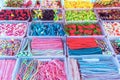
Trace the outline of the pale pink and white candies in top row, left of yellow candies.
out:
[[[42,8],[61,8],[61,0],[42,0]]]

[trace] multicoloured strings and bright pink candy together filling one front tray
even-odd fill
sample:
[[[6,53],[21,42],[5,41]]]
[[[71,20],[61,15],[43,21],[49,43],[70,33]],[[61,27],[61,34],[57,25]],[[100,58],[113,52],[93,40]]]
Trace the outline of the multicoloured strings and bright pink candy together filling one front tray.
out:
[[[23,60],[16,80],[67,80],[64,62]]]

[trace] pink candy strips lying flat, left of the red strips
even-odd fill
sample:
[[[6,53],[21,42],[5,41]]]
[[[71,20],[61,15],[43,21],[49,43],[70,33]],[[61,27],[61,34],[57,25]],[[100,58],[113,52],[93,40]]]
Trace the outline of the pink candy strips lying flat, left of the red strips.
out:
[[[61,39],[34,38],[32,39],[31,42],[31,48],[37,50],[46,50],[46,49],[61,50],[63,49],[63,45]]]

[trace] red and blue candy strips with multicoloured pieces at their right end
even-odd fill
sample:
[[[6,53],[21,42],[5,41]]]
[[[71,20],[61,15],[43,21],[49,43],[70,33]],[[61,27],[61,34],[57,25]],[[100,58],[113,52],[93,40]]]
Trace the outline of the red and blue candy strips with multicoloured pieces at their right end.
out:
[[[103,40],[95,38],[68,38],[69,55],[111,54]]]

